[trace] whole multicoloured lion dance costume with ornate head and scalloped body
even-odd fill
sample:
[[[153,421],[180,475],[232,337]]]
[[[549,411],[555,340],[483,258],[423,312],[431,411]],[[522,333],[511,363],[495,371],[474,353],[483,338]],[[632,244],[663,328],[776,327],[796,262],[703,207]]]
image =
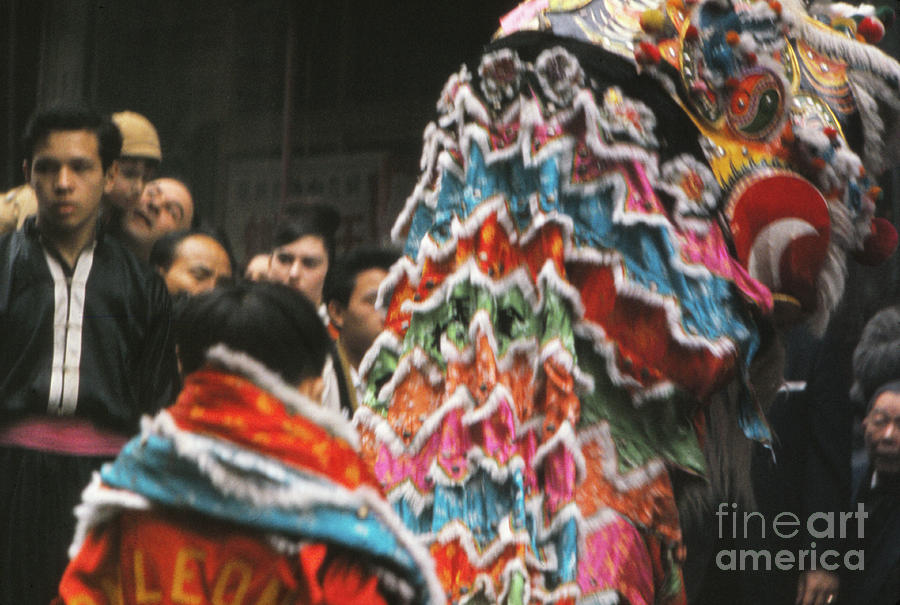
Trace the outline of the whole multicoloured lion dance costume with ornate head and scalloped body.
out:
[[[815,13],[815,14],[813,14]],[[533,0],[448,80],[354,421],[453,603],[684,602],[671,476],[763,326],[823,327],[900,66],[871,7]]]

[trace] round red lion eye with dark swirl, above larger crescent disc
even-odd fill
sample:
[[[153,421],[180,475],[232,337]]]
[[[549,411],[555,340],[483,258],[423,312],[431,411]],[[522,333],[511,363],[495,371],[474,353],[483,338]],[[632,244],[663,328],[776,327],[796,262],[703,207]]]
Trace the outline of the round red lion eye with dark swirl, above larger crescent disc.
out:
[[[739,135],[763,140],[775,132],[784,115],[781,81],[769,72],[744,77],[731,93],[726,118]]]

